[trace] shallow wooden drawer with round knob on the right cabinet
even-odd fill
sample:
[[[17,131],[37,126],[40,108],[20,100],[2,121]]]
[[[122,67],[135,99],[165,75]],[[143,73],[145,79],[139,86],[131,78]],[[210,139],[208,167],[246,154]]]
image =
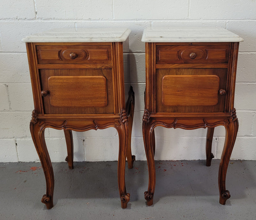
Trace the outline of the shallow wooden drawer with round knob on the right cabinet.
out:
[[[156,63],[228,63],[229,45],[156,45]]]

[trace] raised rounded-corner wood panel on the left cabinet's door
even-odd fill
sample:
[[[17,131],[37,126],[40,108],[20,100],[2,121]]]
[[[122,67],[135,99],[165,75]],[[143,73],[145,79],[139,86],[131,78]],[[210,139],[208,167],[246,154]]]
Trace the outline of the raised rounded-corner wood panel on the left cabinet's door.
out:
[[[54,107],[105,107],[107,82],[104,76],[51,76],[50,104]]]

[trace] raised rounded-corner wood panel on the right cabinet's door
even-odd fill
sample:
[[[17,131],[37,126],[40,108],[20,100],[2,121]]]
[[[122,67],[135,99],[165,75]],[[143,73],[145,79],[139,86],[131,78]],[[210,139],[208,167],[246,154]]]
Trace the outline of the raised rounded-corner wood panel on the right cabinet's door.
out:
[[[165,106],[213,106],[218,103],[217,75],[165,75],[162,103]]]

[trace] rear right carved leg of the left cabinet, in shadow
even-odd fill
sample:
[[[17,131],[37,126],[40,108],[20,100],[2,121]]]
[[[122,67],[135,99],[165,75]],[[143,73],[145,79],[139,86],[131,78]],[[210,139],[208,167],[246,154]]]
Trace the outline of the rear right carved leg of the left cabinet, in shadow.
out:
[[[128,169],[132,169],[133,162],[135,161],[135,156],[132,155],[131,150],[131,139],[132,139],[132,122],[133,122],[133,114],[134,114],[134,92],[132,90],[132,86],[129,91],[129,98],[126,103],[126,112],[130,114],[128,118],[128,146],[127,146],[127,162]]]

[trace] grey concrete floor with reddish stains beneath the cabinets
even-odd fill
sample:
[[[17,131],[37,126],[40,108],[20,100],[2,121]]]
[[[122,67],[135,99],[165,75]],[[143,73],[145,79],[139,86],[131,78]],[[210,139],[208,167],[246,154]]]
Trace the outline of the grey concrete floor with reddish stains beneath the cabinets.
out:
[[[256,219],[256,161],[230,161],[226,187],[231,198],[219,204],[218,168],[205,161],[156,161],[154,205],[147,206],[146,161],[126,169],[131,194],[121,208],[117,162],[53,163],[54,207],[41,203],[45,179],[40,163],[0,163],[0,219]]]

